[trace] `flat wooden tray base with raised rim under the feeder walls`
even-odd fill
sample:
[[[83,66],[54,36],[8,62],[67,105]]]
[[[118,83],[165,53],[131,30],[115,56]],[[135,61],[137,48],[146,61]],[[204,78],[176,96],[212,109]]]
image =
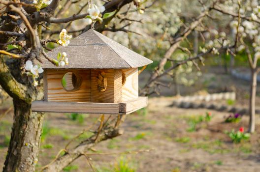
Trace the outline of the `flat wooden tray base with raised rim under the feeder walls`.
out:
[[[33,101],[32,112],[124,115],[146,107],[147,103],[147,97],[138,97],[123,103]]]

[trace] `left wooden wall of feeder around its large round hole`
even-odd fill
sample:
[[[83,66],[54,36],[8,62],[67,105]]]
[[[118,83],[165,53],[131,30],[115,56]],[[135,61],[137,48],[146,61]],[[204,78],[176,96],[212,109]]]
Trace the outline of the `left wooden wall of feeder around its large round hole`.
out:
[[[67,72],[73,72],[81,77],[82,79],[81,85],[76,90],[67,91],[62,86],[62,78]],[[44,78],[44,100],[45,101],[91,102],[90,70],[48,69],[44,71],[43,78]]]

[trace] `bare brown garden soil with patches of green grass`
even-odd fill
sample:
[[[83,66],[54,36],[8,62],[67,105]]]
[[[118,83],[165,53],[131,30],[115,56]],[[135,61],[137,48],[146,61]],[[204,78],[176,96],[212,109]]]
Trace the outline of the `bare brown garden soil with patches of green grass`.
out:
[[[248,82],[232,79],[222,73],[214,76],[208,73],[200,84],[192,88],[186,87],[184,92],[195,92],[201,87],[206,87],[209,92],[213,88],[222,90],[224,85],[228,88],[236,87],[237,100],[232,102],[234,106],[247,106]],[[260,172],[259,115],[256,132],[250,140],[235,144],[225,131],[247,128],[248,116],[243,116],[238,123],[225,123],[225,116],[229,113],[170,107],[174,100],[172,92],[170,89],[164,90],[167,97],[150,97],[146,109],[127,116],[122,125],[125,131],[122,136],[100,143],[90,150],[94,154],[116,153],[90,156],[98,172],[122,172],[117,171],[120,166],[135,172]],[[257,100],[257,108],[260,108],[260,96]],[[226,103],[230,104],[228,101]],[[6,101],[1,106],[0,114],[10,104],[11,100]],[[205,116],[206,112],[211,112],[212,119],[209,122],[199,122],[198,118]],[[0,169],[10,139],[12,114],[11,111],[0,119]],[[37,170],[53,160],[71,138],[88,128],[97,118],[98,115],[47,113]],[[84,133],[78,142],[90,135],[89,132]],[[150,151],[120,154],[140,150]],[[64,171],[92,172],[85,157],[79,158]]]

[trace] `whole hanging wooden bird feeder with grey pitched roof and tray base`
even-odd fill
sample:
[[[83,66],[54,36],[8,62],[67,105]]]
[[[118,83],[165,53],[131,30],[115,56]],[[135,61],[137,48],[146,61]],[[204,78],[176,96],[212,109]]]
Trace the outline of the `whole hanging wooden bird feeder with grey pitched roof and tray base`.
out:
[[[138,67],[151,60],[93,29],[48,56],[59,52],[69,64],[43,62],[44,100],[32,102],[32,111],[130,114],[147,106],[147,97],[138,97]]]

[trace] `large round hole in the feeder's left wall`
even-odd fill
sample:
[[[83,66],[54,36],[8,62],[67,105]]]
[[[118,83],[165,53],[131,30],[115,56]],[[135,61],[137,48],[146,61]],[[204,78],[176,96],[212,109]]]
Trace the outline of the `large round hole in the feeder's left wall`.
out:
[[[66,91],[75,91],[81,85],[81,77],[74,72],[67,72],[62,78],[62,86]]]

